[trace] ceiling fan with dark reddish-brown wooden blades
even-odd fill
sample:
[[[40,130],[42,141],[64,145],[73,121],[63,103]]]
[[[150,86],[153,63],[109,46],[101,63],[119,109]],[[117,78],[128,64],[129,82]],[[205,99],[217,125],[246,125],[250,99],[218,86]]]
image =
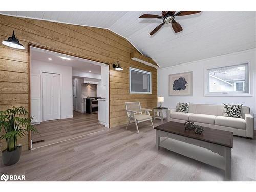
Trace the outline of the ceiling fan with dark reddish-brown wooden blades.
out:
[[[175,16],[183,16],[183,15],[192,15],[196,13],[200,13],[201,11],[180,11],[175,14],[176,11],[162,11],[162,16],[160,15],[150,15],[144,14],[141,15],[139,18],[160,18],[163,19],[163,23],[157,26],[153,31],[150,32],[150,35],[154,35],[164,24],[172,23],[172,27],[175,33],[182,31],[182,27],[178,22],[176,22]]]

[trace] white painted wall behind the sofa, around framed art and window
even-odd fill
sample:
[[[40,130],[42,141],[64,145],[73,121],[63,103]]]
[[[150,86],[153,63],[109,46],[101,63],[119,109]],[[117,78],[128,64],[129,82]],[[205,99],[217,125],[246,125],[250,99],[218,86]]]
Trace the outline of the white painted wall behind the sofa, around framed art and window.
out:
[[[184,53],[185,54],[185,53]],[[252,96],[225,96],[225,97],[205,97],[204,80],[205,69],[226,65],[236,65],[244,62],[250,62],[250,83]],[[169,96],[168,95],[168,75],[193,71],[193,95],[192,96]],[[178,102],[204,103],[204,104],[240,104],[249,106],[251,114],[256,117],[256,49],[231,53],[218,57],[212,57],[204,60],[183,63],[178,66],[162,68],[158,70],[158,95],[164,96],[163,106],[175,108]],[[254,89],[253,89],[254,88]],[[256,119],[256,118],[255,118]],[[254,126],[256,120],[254,119]]]

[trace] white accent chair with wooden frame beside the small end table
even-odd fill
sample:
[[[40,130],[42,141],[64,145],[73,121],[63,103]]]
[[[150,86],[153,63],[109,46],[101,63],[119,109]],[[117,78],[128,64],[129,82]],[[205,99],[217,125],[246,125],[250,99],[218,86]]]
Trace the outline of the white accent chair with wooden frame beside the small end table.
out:
[[[141,123],[144,121],[151,121],[152,127],[154,129],[152,117],[150,115],[150,111],[152,111],[151,109],[141,108],[140,102],[125,102],[125,106],[126,106],[126,112],[129,118],[126,126],[126,130],[128,125],[130,124],[131,119],[133,119],[136,125],[138,134],[140,132],[139,132],[137,123]],[[144,111],[144,114],[142,113],[142,111]]]

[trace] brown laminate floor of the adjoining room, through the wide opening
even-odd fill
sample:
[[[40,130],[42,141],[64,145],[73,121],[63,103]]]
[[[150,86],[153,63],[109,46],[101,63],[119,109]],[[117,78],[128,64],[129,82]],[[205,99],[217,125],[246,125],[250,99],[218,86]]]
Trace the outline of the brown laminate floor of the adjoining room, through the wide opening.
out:
[[[39,131],[32,133],[32,140],[44,142],[34,143],[32,148],[38,148],[61,141],[66,141],[83,135],[105,130],[99,124],[98,114],[79,113],[73,111],[73,118],[45,121],[39,125],[34,125]]]

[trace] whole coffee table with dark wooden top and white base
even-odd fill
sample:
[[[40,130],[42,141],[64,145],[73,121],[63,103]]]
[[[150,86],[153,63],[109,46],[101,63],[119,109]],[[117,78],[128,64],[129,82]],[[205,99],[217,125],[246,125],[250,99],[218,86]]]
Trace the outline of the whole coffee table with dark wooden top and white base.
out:
[[[201,161],[225,170],[227,179],[231,179],[231,148],[233,133],[203,127],[201,135],[193,130],[185,130],[183,123],[167,122],[156,129],[156,147]],[[165,137],[161,138],[160,137]],[[214,153],[212,153],[214,152]]]

